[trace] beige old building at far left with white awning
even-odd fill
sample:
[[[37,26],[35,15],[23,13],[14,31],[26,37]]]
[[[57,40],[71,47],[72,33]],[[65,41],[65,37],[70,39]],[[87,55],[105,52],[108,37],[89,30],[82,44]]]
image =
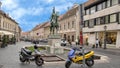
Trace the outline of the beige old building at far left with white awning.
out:
[[[15,36],[16,41],[19,41],[21,35],[21,28],[14,19],[9,17],[9,15],[2,10],[0,10],[0,40],[2,40],[3,35],[8,36],[9,38]]]

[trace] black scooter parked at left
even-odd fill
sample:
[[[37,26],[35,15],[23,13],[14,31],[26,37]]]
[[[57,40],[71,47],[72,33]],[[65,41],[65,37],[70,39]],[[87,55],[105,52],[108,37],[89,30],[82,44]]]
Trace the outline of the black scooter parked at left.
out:
[[[44,60],[41,58],[41,54],[36,45],[34,46],[34,54],[32,54],[32,51],[26,48],[21,48],[19,59],[23,63],[24,62],[30,63],[30,61],[35,60],[35,63],[38,66],[42,66],[44,64]]]

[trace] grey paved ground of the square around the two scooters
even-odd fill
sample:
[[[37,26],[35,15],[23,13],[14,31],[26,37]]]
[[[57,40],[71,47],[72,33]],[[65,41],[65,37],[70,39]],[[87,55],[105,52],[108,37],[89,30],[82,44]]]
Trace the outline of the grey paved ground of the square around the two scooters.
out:
[[[50,62],[45,63],[43,66],[38,67],[34,62],[30,64],[22,64],[19,61],[19,51],[23,46],[33,45],[29,42],[18,42],[16,45],[9,45],[6,48],[0,48],[0,66],[2,68],[65,68],[65,62]],[[95,54],[101,55],[101,60],[95,60],[95,65],[92,68],[119,68],[120,56],[112,54],[104,54],[102,52],[95,52]],[[59,55],[66,57],[66,54]],[[80,65],[72,64],[70,68],[80,68]]]

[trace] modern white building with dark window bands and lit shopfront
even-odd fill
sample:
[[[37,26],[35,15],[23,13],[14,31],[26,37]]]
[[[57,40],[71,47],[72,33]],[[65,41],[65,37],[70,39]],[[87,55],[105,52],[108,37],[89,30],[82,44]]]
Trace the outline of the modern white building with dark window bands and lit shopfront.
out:
[[[89,0],[84,4],[84,38],[89,44],[99,39],[120,47],[120,0]],[[106,36],[105,36],[106,32]],[[105,38],[106,37],[106,38]]]

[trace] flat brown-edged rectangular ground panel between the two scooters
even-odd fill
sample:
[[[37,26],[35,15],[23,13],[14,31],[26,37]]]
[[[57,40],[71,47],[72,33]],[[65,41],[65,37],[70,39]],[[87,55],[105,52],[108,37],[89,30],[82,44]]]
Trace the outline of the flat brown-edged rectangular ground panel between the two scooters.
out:
[[[46,62],[65,61],[64,59],[62,59],[61,57],[57,55],[44,55],[42,56],[42,58]]]

